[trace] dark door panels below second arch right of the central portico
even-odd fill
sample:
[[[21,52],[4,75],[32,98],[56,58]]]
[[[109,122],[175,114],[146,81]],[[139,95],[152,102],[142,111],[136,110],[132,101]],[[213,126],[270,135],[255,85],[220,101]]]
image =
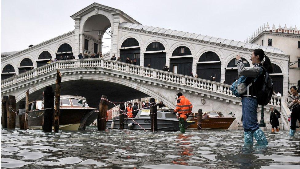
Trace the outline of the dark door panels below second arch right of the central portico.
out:
[[[162,70],[166,66],[166,52],[144,54],[144,67]]]

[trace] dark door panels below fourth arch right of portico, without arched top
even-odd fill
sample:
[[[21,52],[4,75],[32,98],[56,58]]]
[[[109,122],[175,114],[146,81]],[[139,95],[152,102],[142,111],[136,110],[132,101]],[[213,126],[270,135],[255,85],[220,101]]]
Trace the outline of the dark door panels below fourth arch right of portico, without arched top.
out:
[[[201,63],[197,64],[197,74],[199,78],[212,80],[215,77],[216,82],[221,81],[221,63]]]

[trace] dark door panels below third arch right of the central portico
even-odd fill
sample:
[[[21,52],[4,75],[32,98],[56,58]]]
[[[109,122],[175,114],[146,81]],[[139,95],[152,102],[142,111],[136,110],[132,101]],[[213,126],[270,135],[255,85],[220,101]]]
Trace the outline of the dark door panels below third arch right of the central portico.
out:
[[[193,58],[171,58],[170,72],[173,72],[173,66],[177,65],[177,73],[189,76],[192,72]]]

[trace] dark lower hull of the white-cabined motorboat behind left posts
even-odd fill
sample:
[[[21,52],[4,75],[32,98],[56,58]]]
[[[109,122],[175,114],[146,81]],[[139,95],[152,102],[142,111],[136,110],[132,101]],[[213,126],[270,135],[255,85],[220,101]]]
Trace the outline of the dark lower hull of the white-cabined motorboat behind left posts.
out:
[[[60,108],[59,130],[81,130],[94,108]],[[28,112],[28,128],[41,129],[44,110]],[[30,117],[31,116],[31,117]],[[37,117],[37,118],[33,118]],[[53,116],[54,125],[54,116]],[[19,127],[19,115],[16,116],[16,127]]]

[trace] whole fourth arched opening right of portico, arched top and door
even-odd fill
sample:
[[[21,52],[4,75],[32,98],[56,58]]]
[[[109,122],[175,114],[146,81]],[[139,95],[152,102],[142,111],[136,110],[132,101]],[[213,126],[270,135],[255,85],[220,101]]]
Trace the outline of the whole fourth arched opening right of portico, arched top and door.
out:
[[[203,53],[197,62],[197,74],[199,78],[221,81],[221,61],[215,52]]]

